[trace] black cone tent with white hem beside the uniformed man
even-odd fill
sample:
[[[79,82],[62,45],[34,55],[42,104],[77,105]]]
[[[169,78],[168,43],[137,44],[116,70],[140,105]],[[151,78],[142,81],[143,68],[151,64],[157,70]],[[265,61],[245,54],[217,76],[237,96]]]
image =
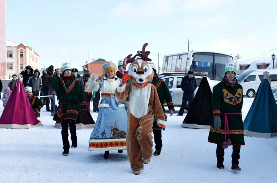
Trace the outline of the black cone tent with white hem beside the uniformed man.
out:
[[[207,80],[208,73],[202,73],[203,79],[196,92],[195,98],[187,112],[182,127],[210,129],[213,121],[212,92]]]

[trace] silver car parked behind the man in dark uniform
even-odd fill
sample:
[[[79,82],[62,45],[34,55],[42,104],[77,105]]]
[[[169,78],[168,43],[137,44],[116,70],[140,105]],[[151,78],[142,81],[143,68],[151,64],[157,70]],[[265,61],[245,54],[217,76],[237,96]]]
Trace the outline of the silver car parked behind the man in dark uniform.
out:
[[[164,80],[166,83],[172,97],[172,102],[175,107],[181,107],[182,105],[182,98],[183,98],[183,90],[181,89],[181,81],[184,76],[187,74],[184,73],[167,73],[162,74],[159,77]],[[197,88],[195,90],[195,94],[198,90],[198,87],[200,85],[200,82],[202,80],[201,76],[194,75],[194,77],[197,79]],[[213,82],[210,78],[207,77],[208,83],[211,87],[211,91],[213,91]]]

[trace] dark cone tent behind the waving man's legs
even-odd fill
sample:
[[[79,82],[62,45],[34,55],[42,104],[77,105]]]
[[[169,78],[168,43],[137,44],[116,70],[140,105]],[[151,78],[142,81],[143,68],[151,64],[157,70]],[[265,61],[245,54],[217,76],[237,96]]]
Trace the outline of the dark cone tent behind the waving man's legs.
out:
[[[75,121],[76,130],[94,128],[95,122],[90,112],[86,110],[86,113],[82,113],[80,109],[81,107],[79,106],[79,114]],[[59,122],[56,122],[54,127],[62,129],[62,125]]]

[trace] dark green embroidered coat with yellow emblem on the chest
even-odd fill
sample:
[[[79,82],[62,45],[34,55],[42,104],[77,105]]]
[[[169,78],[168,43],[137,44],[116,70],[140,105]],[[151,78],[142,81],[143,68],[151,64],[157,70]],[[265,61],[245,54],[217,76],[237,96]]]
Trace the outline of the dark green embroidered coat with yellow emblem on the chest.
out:
[[[237,80],[234,84],[230,84],[224,77],[223,80],[213,88],[212,103],[214,108],[213,116],[220,116],[221,126],[220,129],[216,129],[214,127],[214,121],[212,122],[208,141],[215,144],[223,144],[224,141],[228,140],[227,126],[226,131],[224,129],[224,120],[225,116],[227,116],[232,145],[245,145],[241,116],[241,109],[243,106],[242,86],[237,83]]]

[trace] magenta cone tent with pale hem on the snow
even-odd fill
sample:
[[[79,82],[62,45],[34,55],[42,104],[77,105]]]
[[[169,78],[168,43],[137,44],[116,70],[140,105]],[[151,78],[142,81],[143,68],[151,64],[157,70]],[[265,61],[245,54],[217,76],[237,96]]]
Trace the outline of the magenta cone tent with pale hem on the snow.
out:
[[[17,79],[0,118],[0,128],[26,129],[36,126],[42,126],[42,123],[34,115],[22,81]]]

